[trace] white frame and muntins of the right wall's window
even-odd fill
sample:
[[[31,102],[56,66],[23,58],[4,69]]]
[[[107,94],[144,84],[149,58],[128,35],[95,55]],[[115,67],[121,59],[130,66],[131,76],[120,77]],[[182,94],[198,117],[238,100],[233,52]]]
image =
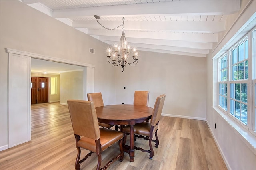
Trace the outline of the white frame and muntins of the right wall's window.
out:
[[[227,114],[229,117],[234,120],[240,127],[243,127],[244,129],[248,130],[251,132],[254,136],[256,136],[256,38],[253,38],[253,32],[254,36],[256,37],[256,27],[248,32],[243,38],[241,38],[239,41],[234,43],[232,47],[230,47],[223,55],[218,57],[218,108]],[[253,39],[252,39],[253,38]],[[243,80],[232,80],[232,50],[237,48],[241,43],[244,43],[248,39],[248,79],[243,79]],[[254,47],[254,49],[253,49]],[[227,80],[228,81],[221,81],[220,79],[220,59],[224,57],[225,55],[228,55],[227,62],[228,62],[228,71],[227,71]],[[244,60],[245,61],[247,59]],[[223,109],[219,104],[220,104],[220,84],[225,84],[227,83],[227,111]],[[240,121],[240,119],[236,118],[233,114],[230,113],[230,85],[233,83],[239,83],[247,84],[247,125]],[[241,89],[242,90],[242,89]],[[242,103],[242,102],[240,102]]]

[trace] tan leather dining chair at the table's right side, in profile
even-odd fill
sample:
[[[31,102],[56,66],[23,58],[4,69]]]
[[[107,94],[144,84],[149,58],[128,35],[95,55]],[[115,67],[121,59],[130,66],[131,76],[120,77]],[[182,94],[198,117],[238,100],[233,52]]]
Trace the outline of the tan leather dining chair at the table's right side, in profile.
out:
[[[152,148],[152,142],[156,143],[156,148],[159,145],[159,139],[157,136],[157,131],[158,131],[158,126],[159,126],[159,120],[161,117],[162,109],[164,106],[164,100],[165,100],[166,95],[160,95],[156,98],[156,102],[154,105],[154,109],[152,112],[151,116],[151,121],[149,122],[142,122],[142,123],[137,123],[134,125],[134,134],[138,138],[143,138],[145,140],[149,140],[149,147],[150,150],[145,150],[139,147],[134,146],[134,149],[140,150],[142,152],[148,152],[149,153],[149,158],[152,159],[154,156],[154,150]],[[123,127],[123,132],[124,132],[124,141],[123,144],[126,142],[127,134],[130,134],[130,125],[127,125]],[[155,134],[156,140],[153,140],[153,135]],[[142,136],[141,136],[142,135]]]

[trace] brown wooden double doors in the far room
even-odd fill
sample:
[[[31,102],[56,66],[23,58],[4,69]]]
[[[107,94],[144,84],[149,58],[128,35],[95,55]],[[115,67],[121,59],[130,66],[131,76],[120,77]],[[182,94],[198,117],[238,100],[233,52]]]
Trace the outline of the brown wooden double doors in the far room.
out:
[[[48,102],[48,77],[31,77],[31,104]]]

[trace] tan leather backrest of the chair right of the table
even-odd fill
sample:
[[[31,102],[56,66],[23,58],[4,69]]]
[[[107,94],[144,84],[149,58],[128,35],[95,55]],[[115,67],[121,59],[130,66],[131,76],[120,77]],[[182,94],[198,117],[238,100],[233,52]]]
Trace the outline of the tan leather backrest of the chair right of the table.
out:
[[[156,123],[160,120],[161,113],[164,107],[164,100],[166,95],[160,95],[156,98],[155,106],[151,117],[151,125],[156,126]]]

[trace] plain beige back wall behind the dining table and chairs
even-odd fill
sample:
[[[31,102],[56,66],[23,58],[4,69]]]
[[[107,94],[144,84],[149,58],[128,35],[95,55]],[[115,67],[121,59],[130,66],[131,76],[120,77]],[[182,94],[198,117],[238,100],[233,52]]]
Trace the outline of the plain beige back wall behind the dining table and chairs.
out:
[[[116,69],[116,103],[132,104],[135,90],[148,90],[150,107],[166,94],[162,115],[205,119],[206,58],[140,51],[136,66]]]

